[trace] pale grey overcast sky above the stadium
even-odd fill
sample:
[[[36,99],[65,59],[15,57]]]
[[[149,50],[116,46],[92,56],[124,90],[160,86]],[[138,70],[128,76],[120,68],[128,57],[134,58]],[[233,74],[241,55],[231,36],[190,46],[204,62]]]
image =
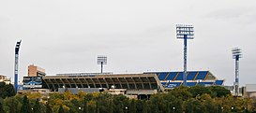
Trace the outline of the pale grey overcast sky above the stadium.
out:
[[[48,75],[99,72],[182,71],[183,40],[175,24],[195,27],[188,41],[188,70],[210,70],[233,85],[231,49],[242,49],[240,85],[256,83],[255,0],[1,0],[0,74],[19,77],[36,64]]]

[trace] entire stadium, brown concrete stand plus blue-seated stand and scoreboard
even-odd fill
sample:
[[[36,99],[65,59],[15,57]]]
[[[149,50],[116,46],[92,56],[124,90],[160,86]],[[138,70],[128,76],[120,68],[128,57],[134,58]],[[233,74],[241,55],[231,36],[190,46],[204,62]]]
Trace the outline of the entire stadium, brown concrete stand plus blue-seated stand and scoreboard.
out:
[[[41,78],[40,84],[25,84],[28,89],[48,89],[52,92],[76,90],[103,89],[106,92],[116,90],[128,95],[150,95],[157,92],[164,92],[183,85],[183,72],[144,72],[141,74],[113,74],[113,73],[70,73],[56,74],[43,77],[24,77],[24,79],[37,81]],[[222,86],[223,79],[216,78],[210,71],[188,71],[188,87]]]

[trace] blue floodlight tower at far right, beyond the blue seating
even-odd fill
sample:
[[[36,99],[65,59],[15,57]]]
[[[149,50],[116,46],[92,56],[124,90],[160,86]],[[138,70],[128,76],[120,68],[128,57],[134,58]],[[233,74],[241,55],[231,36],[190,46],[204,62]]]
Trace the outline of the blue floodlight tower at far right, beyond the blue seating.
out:
[[[235,79],[233,83],[234,95],[238,96],[239,94],[239,59],[242,58],[241,49],[233,48],[232,54],[233,54],[233,59],[235,60]]]

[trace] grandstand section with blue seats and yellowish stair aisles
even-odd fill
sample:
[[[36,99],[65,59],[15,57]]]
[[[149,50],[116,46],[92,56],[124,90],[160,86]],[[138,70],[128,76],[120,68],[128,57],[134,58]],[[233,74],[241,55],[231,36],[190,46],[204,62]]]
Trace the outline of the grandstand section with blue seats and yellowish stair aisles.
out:
[[[144,74],[156,74],[165,89],[173,89],[182,86],[183,72],[145,72]],[[188,87],[203,86],[222,86],[224,79],[216,78],[210,71],[188,71]]]

